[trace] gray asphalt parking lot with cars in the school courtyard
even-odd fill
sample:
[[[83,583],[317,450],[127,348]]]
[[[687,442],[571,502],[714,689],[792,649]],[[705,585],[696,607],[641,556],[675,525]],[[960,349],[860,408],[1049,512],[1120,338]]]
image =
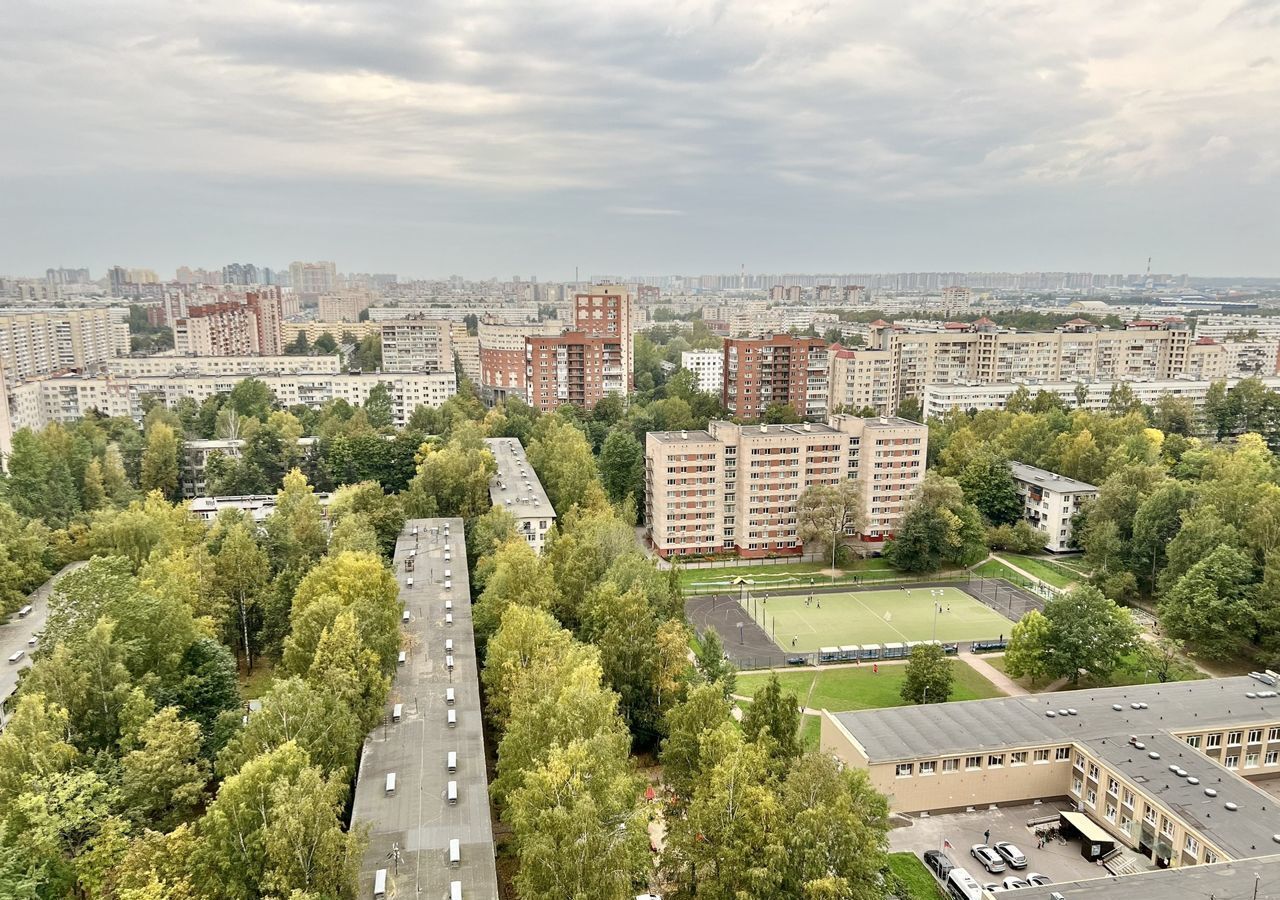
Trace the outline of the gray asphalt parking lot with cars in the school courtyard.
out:
[[[942,850],[942,842],[948,841],[951,846],[946,848],[945,853],[951,862],[968,869],[982,885],[1000,883],[1007,876],[1025,877],[1030,872],[1047,874],[1055,882],[1105,877],[1107,874],[1105,868],[1080,855],[1079,841],[1066,844],[1053,841],[1043,849],[1036,848],[1036,832],[1027,827],[1027,822],[1051,816],[1055,809],[1053,804],[1042,804],[915,818],[911,824],[890,831],[890,850],[914,853],[919,856],[925,850]],[[988,828],[991,840],[984,841],[983,832]],[[978,860],[969,855],[969,848],[974,844],[996,841],[1016,844],[1027,856],[1027,868],[988,874]]]

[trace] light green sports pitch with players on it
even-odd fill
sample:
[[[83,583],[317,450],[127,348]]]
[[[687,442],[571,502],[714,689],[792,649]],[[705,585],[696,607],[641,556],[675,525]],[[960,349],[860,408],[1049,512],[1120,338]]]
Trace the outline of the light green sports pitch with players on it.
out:
[[[822,604],[820,607],[818,604]],[[748,615],[783,650],[812,652],[847,644],[984,640],[1009,636],[1012,622],[959,588],[892,588],[840,594],[758,595]],[[941,611],[934,617],[934,606]],[[937,618],[937,632],[934,632]],[[791,639],[795,644],[791,644]]]

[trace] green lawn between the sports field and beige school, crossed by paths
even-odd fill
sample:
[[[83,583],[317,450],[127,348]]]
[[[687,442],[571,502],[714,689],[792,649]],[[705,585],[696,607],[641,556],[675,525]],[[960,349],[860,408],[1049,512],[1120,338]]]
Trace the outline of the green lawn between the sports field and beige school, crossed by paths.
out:
[[[952,700],[982,700],[991,696],[1004,696],[996,685],[987,681],[966,663],[959,659],[951,661],[954,681],[951,686]],[[849,712],[850,709],[878,709],[882,707],[901,707],[902,680],[906,677],[906,666],[895,663],[879,667],[879,675],[872,671],[872,666],[855,666],[852,668],[805,668],[795,672],[778,672],[778,681],[782,690],[796,695],[796,699],[810,709],[828,709],[833,713]],[[769,675],[739,673],[737,694],[753,696]],[[812,689],[812,690],[810,690]]]

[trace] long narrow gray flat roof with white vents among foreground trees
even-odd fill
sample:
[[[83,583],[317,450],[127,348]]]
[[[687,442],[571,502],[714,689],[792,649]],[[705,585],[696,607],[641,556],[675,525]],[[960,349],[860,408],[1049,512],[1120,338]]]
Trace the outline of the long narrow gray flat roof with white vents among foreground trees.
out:
[[[448,530],[445,529],[448,526]],[[445,897],[462,882],[467,900],[497,900],[493,827],[467,552],[461,518],[416,518],[396,542],[396,577],[408,612],[404,664],[396,670],[385,718],[365,739],[352,819],[370,826],[360,865],[360,896],[372,896],[374,874],[387,869],[388,897]],[[448,585],[448,586],[447,586]],[[445,602],[453,623],[445,623]],[[445,664],[453,641],[453,668]],[[452,687],[453,704],[445,691]],[[392,721],[394,704],[401,721]],[[448,713],[457,713],[456,727]],[[457,755],[457,772],[447,755]],[[396,773],[394,792],[387,776]],[[457,803],[447,799],[457,783]],[[458,840],[461,863],[449,865],[449,841]]]

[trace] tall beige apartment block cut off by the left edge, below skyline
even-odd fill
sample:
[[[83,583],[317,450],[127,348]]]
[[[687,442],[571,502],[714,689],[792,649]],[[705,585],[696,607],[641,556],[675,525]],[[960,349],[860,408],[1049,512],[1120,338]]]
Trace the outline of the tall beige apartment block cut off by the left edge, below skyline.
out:
[[[17,384],[68,370],[97,369],[129,353],[128,310],[0,310],[0,369]]]

